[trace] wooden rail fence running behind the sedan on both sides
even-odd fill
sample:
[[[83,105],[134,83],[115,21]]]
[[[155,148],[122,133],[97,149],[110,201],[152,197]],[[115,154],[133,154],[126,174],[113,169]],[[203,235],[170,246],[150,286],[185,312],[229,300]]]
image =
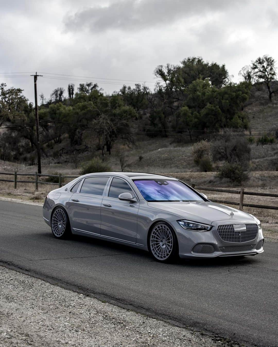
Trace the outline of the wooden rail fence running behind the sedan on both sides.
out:
[[[77,178],[78,176],[64,176],[64,175],[47,175],[47,174],[38,174],[35,172],[34,174],[18,174],[16,171],[13,173],[7,173],[7,172],[0,172],[0,175],[9,175],[14,176],[13,179],[0,179],[2,182],[14,182],[14,188],[17,188],[17,183],[33,183],[35,184],[35,190],[38,190],[39,184],[52,184],[62,187],[64,184],[62,183],[63,178]],[[18,180],[18,176],[34,176],[34,180]],[[58,177],[59,183],[54,182],[46,182],[46,181],[40,181],[39,177]],[[209,187],[199,187],[195,186],[195,184],[192,184],[192,188],[200,191],[209,191],[209,192],[220,192],[220,193],[230,193],[230,194],[239,194],[239,202],[234,201],[225,201],[225,200],[217,200],[217,199],[210,199],[212,202],[217,202],[220,204],[227,204],[227,205],[237,205],[239,206],[239,210],[243,210],[243,207],[253,207],[258,209],[270,209],[270,210],[278,210],[277,206],[268,206],[268,205],[254,205],[254,204],[246,204],[244,203],[244,195],[254,195],[254,196],[268,196],[268,197],[278,197],[278,194],[272,194],[272,193],[256,193],[256,192],[245,192],[244,188],[240,188],[239,190],[233,190],[233,189],[220,189],[220,188],[209,188]]]

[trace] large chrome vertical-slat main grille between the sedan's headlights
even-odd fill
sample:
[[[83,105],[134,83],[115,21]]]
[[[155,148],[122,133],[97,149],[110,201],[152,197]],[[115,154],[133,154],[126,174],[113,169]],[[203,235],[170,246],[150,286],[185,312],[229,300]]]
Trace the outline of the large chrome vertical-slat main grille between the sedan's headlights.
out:
[[[233,224],[219,225],[217,228],[221,240],[236,243],[254,240],[258,230],[257,224],[246,224],[246,229],[242,231],[235,231]]]

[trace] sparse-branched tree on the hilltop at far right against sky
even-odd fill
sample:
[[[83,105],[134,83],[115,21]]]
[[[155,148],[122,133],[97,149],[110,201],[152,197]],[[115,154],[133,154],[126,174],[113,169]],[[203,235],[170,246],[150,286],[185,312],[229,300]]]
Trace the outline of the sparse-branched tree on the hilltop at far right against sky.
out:
[[[272,101],[272,94],[277,92],[277,88],[273,89],[273,82],[276,77],[275,60],[265,54],[263,57],[252,61],[251,69],[254,73],[255,81],[267,86],[268,97]]]

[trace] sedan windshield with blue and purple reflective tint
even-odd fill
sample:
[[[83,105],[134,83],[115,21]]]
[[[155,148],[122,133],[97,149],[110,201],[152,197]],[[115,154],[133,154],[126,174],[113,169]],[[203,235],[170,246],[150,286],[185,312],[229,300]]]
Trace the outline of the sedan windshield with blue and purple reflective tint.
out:
[[[173,179],[134,179],[146,201],[204,201],[184,183]]]

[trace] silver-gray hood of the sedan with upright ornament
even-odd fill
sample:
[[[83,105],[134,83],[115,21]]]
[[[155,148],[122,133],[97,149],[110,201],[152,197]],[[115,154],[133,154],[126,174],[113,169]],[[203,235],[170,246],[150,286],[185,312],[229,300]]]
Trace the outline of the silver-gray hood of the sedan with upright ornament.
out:
[[[219,220],[244,219],[254,223],[250,214],[236,210],[232,207],[217,204],[211,201],[200,202],[148,202],[148,206],[180,215],[181,219],[188,219],[200,223],[211,224]],[[231,216],[231,212],[234,213]]]

